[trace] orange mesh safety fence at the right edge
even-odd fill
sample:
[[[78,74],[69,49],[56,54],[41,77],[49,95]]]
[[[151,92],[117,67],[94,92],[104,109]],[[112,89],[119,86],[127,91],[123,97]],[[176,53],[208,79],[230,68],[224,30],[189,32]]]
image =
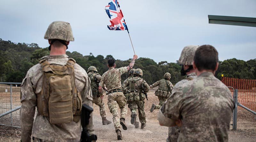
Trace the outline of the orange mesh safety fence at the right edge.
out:
[[[228,87],[238,89],[238,102],[256,112],[256,80],[221,77],[221,81]]]

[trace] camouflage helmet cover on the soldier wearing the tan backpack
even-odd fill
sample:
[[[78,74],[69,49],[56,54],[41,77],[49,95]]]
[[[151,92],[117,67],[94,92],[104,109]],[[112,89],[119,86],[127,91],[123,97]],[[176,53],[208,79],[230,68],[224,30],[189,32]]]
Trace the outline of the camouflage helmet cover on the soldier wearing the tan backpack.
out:
[[[71,26],[68,22],[54,21],[45,32],[44,39],[59,39],[64,41],[74,41]]]

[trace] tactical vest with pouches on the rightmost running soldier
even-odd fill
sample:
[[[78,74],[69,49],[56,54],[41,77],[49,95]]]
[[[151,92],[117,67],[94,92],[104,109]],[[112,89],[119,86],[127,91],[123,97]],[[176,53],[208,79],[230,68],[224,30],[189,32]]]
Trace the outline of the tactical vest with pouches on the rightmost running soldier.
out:
[[[159,81],[159,87],[155,91],[155,95],[163,98],[168,98],[170,95],[170,83],[166,79],[161,79]]]

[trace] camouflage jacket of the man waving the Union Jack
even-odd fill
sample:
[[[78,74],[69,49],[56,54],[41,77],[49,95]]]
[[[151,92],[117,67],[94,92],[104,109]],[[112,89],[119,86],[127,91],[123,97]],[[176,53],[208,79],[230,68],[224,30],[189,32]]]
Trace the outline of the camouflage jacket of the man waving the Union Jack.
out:
[[[127,72],[127,67],[114,68],[110,67],[108,71],[106,71],[100,81],[100,86],[104,88],[104,85],[108,88],[108,91],[114,89],[121,89],[121,75]]]

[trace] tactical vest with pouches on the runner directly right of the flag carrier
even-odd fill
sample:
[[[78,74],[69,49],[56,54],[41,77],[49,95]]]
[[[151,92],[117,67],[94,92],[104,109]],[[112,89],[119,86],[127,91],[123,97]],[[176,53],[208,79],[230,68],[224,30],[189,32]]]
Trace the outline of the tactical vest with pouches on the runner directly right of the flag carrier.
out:
[[[139,78],[139,77],[132,77],[127,80],[129,83],[129,86],[127,89],[128,93],[124,95],[127,99],[127,102],[145,100],[146,96],[144,93],[142,93],[142,87],[138,86],[139,84],[137,83],[141,79],[142,78]]]

